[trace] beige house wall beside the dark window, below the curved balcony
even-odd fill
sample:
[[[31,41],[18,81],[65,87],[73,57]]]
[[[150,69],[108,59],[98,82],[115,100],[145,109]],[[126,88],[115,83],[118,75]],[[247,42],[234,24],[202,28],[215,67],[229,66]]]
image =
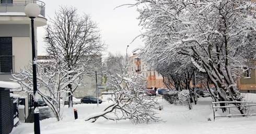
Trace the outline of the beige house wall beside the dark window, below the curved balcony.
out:
[[[14,70],[25,69],[32,60],[31,29],[29,24],[0,24],[0,37],[12,37]],[[35,32],[37,29],[35,28]],[[36,38],[37,39],[37,38]],[[37,40],[36,40],[37,41]],[[37,43],[35,43],[37,45]],[[11,74],[0,74],[0,81],[10,81]]]

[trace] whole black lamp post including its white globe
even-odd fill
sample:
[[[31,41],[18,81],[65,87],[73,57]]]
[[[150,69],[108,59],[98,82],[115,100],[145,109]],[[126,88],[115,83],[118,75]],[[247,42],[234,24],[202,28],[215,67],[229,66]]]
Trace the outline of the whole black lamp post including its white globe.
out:
[[[37,97],[37,69],[36,69],[36,49],[34,46],[34,18],[40,14],[37,4],[28,4],[25,7],[25,14],[31,19],[31,38],[32,38],[32,68],[33,68],[33,99],[34,99],[34,133],[40,134],[39,109]]]

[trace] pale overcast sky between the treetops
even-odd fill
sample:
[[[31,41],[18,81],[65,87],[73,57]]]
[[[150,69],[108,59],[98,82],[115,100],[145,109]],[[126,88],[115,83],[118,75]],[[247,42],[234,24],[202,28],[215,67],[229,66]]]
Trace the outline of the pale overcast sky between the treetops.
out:
[[[139,21],[136,19],[139,15],[136,8],[123,6],[114,9],[122,4],[135,3],[136,1],[134,0],[42,1],[45,3],[45,17],[47,19],[49,17],[53,18],[55,10],[59,10],[61,5],[77,8],[79,15],[83,15],[83,13],[89,14],[91,19],[98,23],[102,40],[109,45],[107,51],[125,54],[126,47],[129,45],[127,53],[131,55],[133,49],[143,46],[142,39],[140,38],[131,43],[141,33],[141,28],[138,26]],[[38,55],[45,55],[44,33],[43,27],[38,28]]]

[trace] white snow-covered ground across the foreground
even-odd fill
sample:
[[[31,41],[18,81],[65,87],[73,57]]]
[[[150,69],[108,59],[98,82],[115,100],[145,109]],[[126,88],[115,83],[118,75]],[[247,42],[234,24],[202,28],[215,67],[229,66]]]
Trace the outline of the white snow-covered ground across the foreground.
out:
[[[103,97],[103,100],[106,97]],[[248,93],[245,98],[247,101],[256,102],[256,94]],[[95,123],[85,122],[83,119],[92,113],[100,112],[109,102],[102,104],[77,104],[78,119],[74,119],[73,109],[65,106],[63,120],[57,122],[55,118],[48,118],[40,121],[42,134],[50,133],[256,133],[256,116],[250,117],[220,117],[213,121],[212,99],[199,98],[197,105],[193,104],[193,109],[189,110],[180,104],[169,104],[165,100],[159,99],[158,102],[164,107],[158,111],[159,116],[166,122],[137,124],[134,125],[129,120],[115,122],[99,118]],[[254,108],[254,110],[256,110]],[[217,112],[221,112],[218,110]],[[251,111],[250,113],[256,113]],[[208,121],[211,118],[212,121]],[[33,133],[33,123],[20,123],[13,129],[11,134]]]

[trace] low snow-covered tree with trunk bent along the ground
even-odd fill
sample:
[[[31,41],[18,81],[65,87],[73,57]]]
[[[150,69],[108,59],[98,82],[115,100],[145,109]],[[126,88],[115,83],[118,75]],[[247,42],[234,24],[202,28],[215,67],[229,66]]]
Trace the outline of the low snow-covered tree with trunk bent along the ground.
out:
[[[161,122],[156,116],[158,103],[152,97],[146,97],[146,83],[141,74],[131,78],[124,75],[109,75],[108,88],[114,91],[113,102],[100,113],[89,115],[85,120],[95,122],[99,117],[110,120],[130,119],[134,124]]]

